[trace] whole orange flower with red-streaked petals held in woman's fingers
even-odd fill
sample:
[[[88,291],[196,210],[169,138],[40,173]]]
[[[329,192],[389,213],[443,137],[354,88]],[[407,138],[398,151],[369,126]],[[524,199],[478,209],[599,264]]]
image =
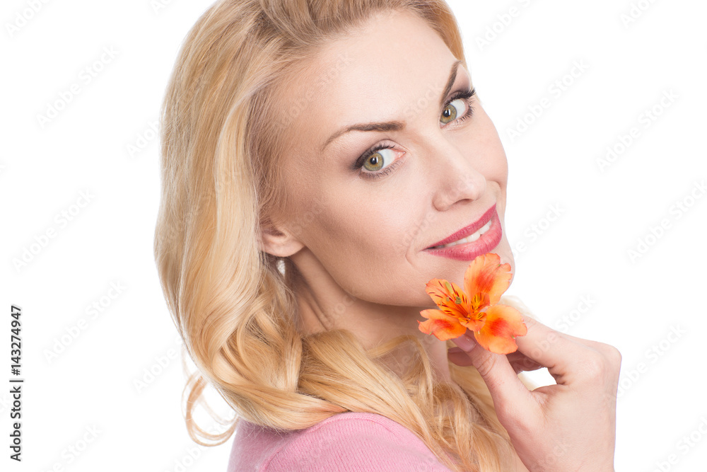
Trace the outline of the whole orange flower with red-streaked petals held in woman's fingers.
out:
[[[464,272],[464,290],[454,282],[433,279],[425,292],[439,307],[423,310],[427,321],[418,321],[420,330],[445,341],[458,338],[469,330],[484,349],[496,354],[510,354],[518,349],[516,336],[527,333],[520,311],[500,305],[510,284],[510,264],[501,264],[498,254],[479,255]]]

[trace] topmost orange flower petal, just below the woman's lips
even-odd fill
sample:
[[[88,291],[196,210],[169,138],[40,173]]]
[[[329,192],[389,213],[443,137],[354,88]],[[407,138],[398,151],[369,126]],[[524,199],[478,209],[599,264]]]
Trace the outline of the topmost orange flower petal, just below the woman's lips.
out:
[[[495,305],[508,289],[510,279],[510,264],[501,264],[498,254],[486,253],[475,258],[464,272],[464,292],[469,299],[488,295],[481,297],[484,303],[479,308]]]

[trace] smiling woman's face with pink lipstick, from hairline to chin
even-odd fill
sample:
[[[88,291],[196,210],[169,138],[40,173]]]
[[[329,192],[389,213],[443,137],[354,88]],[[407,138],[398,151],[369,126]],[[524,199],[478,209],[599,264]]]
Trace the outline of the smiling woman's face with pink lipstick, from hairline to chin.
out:
[[[382,13],[308,65],[274,117],[289,133],[279,229],[301,243],[288,247],[301,247],[290,252],[308,283],[334,282],[377,304],[433,306],[426,283],[461,284],[475,255],[498,253],[513,267],[506,154],[477,96],[463,95],[469,72],[427,23]],[[479,226],[477,241],[433,249]]]

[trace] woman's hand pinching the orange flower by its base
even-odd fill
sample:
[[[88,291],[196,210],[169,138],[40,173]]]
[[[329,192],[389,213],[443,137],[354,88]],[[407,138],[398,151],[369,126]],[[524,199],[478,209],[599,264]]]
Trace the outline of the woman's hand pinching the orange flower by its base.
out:
[[[614,471],[621,354],[525,317],[518,351],[498,355],[467,334],[448,357],[473,365],[489,387],[498,420],[529,471]],[[556,385],[529,391],[518,372],[547,367]]]

